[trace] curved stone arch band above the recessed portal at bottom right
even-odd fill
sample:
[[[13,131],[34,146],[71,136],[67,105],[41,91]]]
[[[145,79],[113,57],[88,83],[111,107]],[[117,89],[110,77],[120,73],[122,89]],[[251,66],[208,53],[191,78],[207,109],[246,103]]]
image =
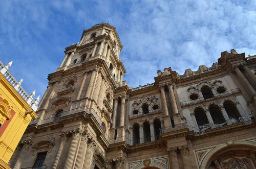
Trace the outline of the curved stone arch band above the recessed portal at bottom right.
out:
[[[223,154],[228,154],[231,151],[237,150],[250,150],[252,152],[256,151],[256,146],[254,142],[249,141],[229,141],[227,143],[221,144],[220,146],[212,149],[202,160],[200,168],[208,168],[212,160],[216,159],[218,156]]]

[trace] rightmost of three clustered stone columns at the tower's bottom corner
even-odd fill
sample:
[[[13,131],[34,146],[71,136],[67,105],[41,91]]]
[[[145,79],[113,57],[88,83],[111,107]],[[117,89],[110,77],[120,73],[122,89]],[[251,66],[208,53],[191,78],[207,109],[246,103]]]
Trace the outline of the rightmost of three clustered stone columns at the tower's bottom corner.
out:
[[[93,139],[90,140],[87,151],[86,151],[86,157],[84,158],[83,163],[83,169],[91,169],[93,165],[93,154],[95,152],[96,143]]]

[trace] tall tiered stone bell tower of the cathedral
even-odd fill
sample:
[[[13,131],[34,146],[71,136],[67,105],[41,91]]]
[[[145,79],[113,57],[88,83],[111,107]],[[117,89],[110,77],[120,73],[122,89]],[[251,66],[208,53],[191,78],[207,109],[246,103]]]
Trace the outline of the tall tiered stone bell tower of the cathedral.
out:
[[[59,147],[54,149],[53,161],[45,160],[49,168],[106,167],[98,157],[104,157],[109,146],[114,92],[122,86],[126,73],[119,60],[121,49],[115,27],[97,24],[83,30],[80,43],[66,47],[59,68],[49,74],[49,86],[38,106],[39,118],[30,124],[23,138],[35,144],[33,151],[41,159],[50,154],[41,153],[45,148],[40,145]],[[32,137],[31,130],[46,131],[46,126],[45,134],[52,139],[42,143],[42,138]],[[12,167],[33,165],[36,162],[17,161]]]

